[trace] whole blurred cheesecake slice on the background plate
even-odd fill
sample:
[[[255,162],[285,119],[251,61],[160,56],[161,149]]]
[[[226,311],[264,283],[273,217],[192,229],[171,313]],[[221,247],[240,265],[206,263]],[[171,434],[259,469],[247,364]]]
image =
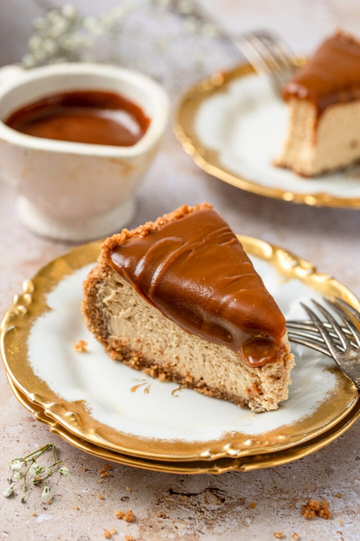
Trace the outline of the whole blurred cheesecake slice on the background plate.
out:
[[[360,42],[338,32],[286,84],[289,126],[281,167],[303,176],[360,160]]]

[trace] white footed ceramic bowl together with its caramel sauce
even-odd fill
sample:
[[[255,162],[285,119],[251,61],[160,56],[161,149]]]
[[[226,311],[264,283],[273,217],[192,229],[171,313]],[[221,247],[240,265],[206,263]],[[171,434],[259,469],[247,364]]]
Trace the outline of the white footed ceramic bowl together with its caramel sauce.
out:
[[[119,231],[159,148],[166,91],[138,72],[64,63],[0,69],[0,167],[19,219],[52,239]]]

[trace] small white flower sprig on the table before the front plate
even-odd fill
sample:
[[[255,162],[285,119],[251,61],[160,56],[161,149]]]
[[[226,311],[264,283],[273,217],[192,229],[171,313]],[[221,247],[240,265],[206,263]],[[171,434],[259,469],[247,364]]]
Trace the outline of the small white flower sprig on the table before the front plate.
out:
[[[38,463],[38,459],[46,452],[52,451],[52,464],[50,466],[42,466]],[[62,464],[61,467],[56,468],[58,464]],[[13,494],[15,486],[23,480],[24,495],[21,498],[21,502],[25,502],[28,497],[29,483],[38,485],[45,481],[45,487],[42,493],[42,499],[45,502],[49,502],[53,494],[47,484],[46,479],[52,475],[54,471],[59,472],[61,477],[69,477],[69,469],[64,466],[64,460],[56,460],[55,445],[48,443],[37,451],[29,453],[24,458],[15,458],[10,464],[10,478],[8,479],[9,487],[4,490],[3,496],[9,498]]]

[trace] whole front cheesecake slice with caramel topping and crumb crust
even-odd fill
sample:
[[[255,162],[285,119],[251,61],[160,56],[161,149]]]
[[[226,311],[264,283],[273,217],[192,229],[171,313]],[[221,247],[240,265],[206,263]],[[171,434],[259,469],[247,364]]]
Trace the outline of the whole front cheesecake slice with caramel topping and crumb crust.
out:
[[[107,239],[84,292],[86,324],[112,358],[256,412],[288,397],[284,317],[209,204]]]

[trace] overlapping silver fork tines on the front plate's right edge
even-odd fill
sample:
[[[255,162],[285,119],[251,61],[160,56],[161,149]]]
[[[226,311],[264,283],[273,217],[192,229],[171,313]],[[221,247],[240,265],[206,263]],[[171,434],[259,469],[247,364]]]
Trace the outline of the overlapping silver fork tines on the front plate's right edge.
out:
[[[341,324],[315,300],[312,302],[324,316],[324,321],[311,308],[301,303],[310,321],[287,321],[289,340],[334,359],[339,369],[360,390],[360,313],[342,299],[324,300],[337,314]]]

